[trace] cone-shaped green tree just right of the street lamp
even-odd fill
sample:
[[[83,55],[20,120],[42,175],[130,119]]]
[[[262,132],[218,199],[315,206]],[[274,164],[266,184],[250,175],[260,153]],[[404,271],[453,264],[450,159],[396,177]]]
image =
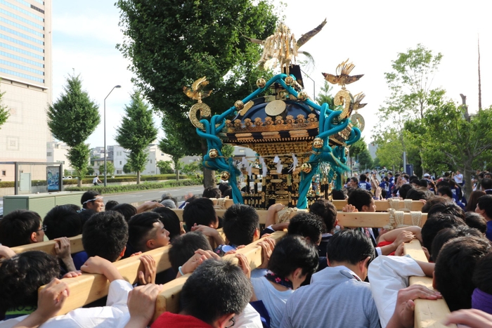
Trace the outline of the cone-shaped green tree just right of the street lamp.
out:
[[[131,169],[136,171],[136,183],[140,183],[140,172],[148,162],[147,147],[157,138],[152,110],[143,102],[140,91],[131,95],[130,105],[125,105],[125,116],[116,130],[116,142],[128,150]]]

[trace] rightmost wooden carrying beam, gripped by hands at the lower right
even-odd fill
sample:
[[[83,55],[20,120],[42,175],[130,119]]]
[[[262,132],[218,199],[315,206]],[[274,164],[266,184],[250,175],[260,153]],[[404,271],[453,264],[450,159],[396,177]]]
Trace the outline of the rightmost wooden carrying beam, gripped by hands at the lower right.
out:
[[[422,262],[428,262],[427,256],[422,251],[420,242],[416,239],[404,246],[404,253],[412,256],[413,259]],[[431,277],[410,277],[410,285],[422,284],[423,286],[434,289],[432,287]],[[455,324],[445,326],[444,318],[450,313],[448,305],[444,299],[431,301],[427,299],[415,300],[415,327],[417,328],[448,328],[456,327]]]

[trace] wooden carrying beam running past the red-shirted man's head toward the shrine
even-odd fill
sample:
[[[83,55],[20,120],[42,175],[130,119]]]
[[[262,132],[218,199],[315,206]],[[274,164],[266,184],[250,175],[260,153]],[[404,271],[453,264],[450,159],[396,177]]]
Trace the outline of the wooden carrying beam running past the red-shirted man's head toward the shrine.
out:
[[[286,232],[284,231],[277,231],[273,232],[270,237],[278,241],[283,236],[285,236],[285,234]],[[243,254],[247,257],[248,261],[250,261],[250,266],[252,270],[261,265],[261,247],[258,246],[258,242],[260,241],[261,240],[252,242],[245,248],[238,249],[238,251],[236,251],[236,253]],[[229,261],[233,261],[234,263],[238,263],[238,259],[235,258],[234,254],[224,256],[224,258]],[[183,284],[186,282],[189,276],[190,275],[188,274],[180,277],[179,279],[164,284],[164,286],[162,287],[162,291],[157,296],[153,320],[157,319],[157,317],[159,317],[162,313],[166,311],[173,313],[177,313],[179,311],[179,294],[181,293]]]

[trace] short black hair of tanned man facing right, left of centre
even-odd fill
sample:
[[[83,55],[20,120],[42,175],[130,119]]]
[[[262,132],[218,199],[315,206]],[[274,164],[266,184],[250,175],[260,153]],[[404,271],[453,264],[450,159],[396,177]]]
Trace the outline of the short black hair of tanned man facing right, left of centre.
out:
[[[128,243],[135,251],[147,251],[145,244],[155,237],[156,222],[161,223],[160,215],[153,211],[136,214],[128,221]]]

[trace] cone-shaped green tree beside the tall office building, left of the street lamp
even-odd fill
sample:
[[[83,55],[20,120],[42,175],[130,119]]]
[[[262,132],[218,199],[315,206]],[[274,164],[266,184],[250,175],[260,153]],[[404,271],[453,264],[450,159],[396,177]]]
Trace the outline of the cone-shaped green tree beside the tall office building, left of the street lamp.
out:
[[[55,138],[70,146],[67,159],[75,169],[79,186],[86,176],[89,162],[89,145],[84,142],[101,122],[98,108],[89,94],[82,90],[79,75],[68,76],[60,98],[48,107],[48,128]]]

